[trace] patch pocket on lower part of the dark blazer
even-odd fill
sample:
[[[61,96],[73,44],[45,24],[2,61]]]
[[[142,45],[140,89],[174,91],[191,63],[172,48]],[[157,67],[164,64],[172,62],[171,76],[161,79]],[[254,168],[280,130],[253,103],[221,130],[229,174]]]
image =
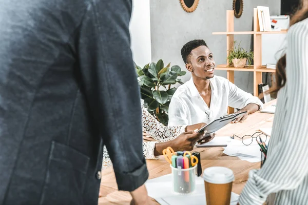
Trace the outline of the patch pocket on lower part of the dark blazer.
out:
[[[40,204],[83,204],[90,158],[52,141]]]

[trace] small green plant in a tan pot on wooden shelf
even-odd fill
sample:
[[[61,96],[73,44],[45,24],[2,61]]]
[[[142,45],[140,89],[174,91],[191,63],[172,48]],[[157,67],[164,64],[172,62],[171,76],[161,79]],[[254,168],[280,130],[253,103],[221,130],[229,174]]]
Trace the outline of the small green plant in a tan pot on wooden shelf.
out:
[[[230,50],[227,57],[229,65],[233,65],[235,68],[244,68],[246,66],[247,60],[248,65],[251,66],[253,59],[254,52],[245,51],[243,48],[241,48],[241,43],[237,44],[236,41],[234,42],[234,49]]]

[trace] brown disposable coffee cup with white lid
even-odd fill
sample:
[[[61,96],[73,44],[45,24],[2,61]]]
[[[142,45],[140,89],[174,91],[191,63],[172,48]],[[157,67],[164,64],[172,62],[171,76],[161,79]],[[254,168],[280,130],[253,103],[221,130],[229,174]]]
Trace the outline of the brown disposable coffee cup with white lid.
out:
[[[234,181],[233,171],[225,167],[209,167],[203,172],[206,204],[229,205]]]

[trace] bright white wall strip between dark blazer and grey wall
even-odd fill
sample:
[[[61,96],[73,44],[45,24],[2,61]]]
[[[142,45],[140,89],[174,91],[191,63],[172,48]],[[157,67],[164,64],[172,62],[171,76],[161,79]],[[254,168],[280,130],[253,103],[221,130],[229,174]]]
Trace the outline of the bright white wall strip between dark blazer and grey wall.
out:
[[[132,1],[129,30],[133,60],[143,67],[151,62],[150,0]]]

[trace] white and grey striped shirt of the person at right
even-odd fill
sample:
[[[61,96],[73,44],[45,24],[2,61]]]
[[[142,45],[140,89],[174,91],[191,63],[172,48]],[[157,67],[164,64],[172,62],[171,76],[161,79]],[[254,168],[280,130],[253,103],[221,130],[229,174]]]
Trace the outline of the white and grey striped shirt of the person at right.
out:
[[[262,169],[249,172],[249,179],[239,199],[241,205],[262,204],[271,193],[297,189],[307,177],[307,22],[306,19],[293,25],[287,34],[287,81],[278,98],[278,104],[279,100],[282,100],[285,107],[277,107],[283,110],[284,114],[279,118],[275,114],[271,139],[272,142],[275,141],[275,145],[269,143],[269,155]],[[301,194],[300,190],[296,194]]]

